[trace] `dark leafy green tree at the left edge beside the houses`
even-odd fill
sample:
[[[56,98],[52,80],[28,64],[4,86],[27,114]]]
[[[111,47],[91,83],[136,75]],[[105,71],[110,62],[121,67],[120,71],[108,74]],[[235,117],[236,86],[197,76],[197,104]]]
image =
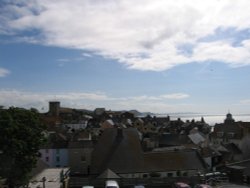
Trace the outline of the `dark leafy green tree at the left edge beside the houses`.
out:
[[[9,187],[28,182],[45,142],[44,129],[34,109],[0,109],[0,177],[7,179]]]

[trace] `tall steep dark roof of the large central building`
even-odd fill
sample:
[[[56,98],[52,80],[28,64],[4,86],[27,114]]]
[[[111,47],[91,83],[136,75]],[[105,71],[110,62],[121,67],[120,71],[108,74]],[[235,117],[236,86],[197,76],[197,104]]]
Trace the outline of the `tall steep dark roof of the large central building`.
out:
[[[139,171],[143,166],[143,152],[135,128],[105,129],[92,153],[91,173],[105,169],[116,173]]]

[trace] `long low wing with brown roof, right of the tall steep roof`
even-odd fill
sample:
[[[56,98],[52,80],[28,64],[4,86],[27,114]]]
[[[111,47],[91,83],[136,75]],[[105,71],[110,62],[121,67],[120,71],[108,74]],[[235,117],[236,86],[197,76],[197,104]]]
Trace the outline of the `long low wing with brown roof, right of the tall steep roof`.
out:
[[[191,177],[205,172],[207,166],[196,150],[149,152],[144,154],[142,177]]]

